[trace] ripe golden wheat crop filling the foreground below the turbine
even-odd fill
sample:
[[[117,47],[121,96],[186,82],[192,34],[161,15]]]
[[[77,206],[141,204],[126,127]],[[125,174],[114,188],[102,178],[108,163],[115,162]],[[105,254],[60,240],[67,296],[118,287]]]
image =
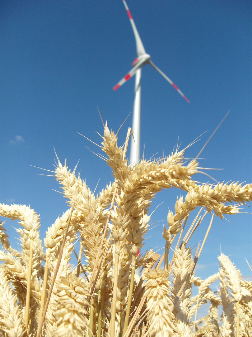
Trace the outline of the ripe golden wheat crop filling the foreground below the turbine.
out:
[[[21,225],[19,251],[10,246],[4,222],[0,225],[1,336],[252,336],[252,282],[222,253],[218,273],[205,280],[195,274],[214,217],[238,213],[240,204],[252,200],[252,184],[194,181],[199,165],[184,158],[186,149],[131,167],[129,136],[130,129],[118,147],[117,134],[104,125],[100,147],[114,181],[97,195],[76,167],[72,172],[57,157],[54,176],[69,209],[43,241],[35,210],[0,204],[0,216]],[[173,212],[167,210],[164,254],[140,255],[149,207],[164,188],[187,194],[174,201]],[[193,255],[190,239],[207,213],[211,221]],[[219,289],[213,291],[217,280]],[[194,296],[193,286],[198,287]],[[198,317],[205,303],[209,313]]]

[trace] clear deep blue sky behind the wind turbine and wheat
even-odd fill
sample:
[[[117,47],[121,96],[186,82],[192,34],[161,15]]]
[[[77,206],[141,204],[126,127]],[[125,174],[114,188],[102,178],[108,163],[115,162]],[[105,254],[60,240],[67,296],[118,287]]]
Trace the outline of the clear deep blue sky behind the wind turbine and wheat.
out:
[[[128,0],[146,53],[190,100],[187,103],[151,66],[142,70],[140,152],[149,159],[168,155],[178,142],[196,157],[208,137],[229,115],[201,154],[200,166],[217,181],[252,181],[251,174],[251,2],[249,0]],[[112,88],[136,57],[133,31],[121,0],[1,1],[0,9],[0,203],[26,204],[41,218],[41,237],[67,209],[59,184],[38,168],[54,169],[54,149],[94,190],[112,180],[108,165],[90,152],[103,120],[118,130],[133,109],[134,78]],[[124,143],[132,114],[119,131]],[[50,173],[49,173],[50,174]],[[198,174],[201,182],[209,178]],[[213,183],[212,180],[210,180]],[[164,246],[163,223],[180,190],[157,194],[146,247]],[[182,193],[183,194],[183,193]],[[184,194],[183,194],[184,195]],[[244,212],[250,207],[242,206]],[[196,268],[201,277],[218,270],[222,252],[244,276],[251,276],[251,214],[216,217]],[[2,219],[3,220],[3,219]],[[203,240],[207,220],[192,238]],[[11,244],[17,234],[6,221]],[[153,225],[154,226],[154,225]],[[160,251],[163,252],[162,250]]]

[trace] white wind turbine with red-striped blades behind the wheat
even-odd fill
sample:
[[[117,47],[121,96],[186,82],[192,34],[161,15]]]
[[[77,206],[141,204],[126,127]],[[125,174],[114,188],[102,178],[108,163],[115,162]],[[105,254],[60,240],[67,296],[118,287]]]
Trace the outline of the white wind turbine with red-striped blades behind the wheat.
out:
[[[113,88],[113,90],[121,87],[126,81],[128,81],[134,74],[136,74],[135,79],[135,97],[134,97],[134,108],[133,108],[133,125],[132,130],[134,132],[134,140],[131,140],[131,151],[130,151],[130,164],[133,167],[139,160],[139,150],[140,150],[140,94],[141,94],[141,70],[142,67],[149,63],[154,69],[156,69],[179,93],[184,99],[189,103],[185,95],[178,89],[178,87],[151,61],[151,56],[146,54],[143,47],[142,41],[136,29],[135,23],[130,14],[129,8],[126,1],[123,0],[124,6],[127,10],[129,20],[133,29],[136,40],[136,52],[137,58],[132,63],[132,69],[121,79],[120,82]]]

